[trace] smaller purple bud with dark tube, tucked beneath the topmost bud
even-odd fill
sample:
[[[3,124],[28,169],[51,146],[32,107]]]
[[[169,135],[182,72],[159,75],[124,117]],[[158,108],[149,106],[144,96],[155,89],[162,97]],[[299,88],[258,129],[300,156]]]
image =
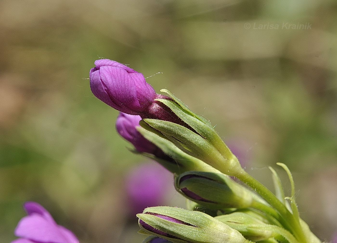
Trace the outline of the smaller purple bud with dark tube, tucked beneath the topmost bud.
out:
[[[116,120],[116,129],[123,138],[133,144],[137,151],[150,153],[158,158],[175,162],[171,157],[164,154],[160,148],[145,139],[143,135],[137,131],[136,127],[139,126],[140,120],[142,120],[140,116],[133,116],[120,112]]]

